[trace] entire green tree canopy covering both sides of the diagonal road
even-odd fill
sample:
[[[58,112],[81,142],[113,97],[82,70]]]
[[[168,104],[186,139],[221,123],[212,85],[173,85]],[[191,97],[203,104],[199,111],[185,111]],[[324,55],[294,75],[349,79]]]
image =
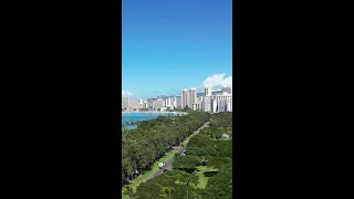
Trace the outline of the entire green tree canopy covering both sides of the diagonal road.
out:
[[[232,139],[221,139],[225,133],[232,134],[231,113],[189,112],[187,116],[145,121],[138,128],[126,130],[122,135],[125,146],[122,178],[128,178],[135,169],[148,168],[210,117],[210,127],[189,139],[186,155],[174,158],[173,170],[140,184],[135,193],[127,189],[127,193],[138,198],[232,198]],[[201,172],[202,169],[206,170]]]

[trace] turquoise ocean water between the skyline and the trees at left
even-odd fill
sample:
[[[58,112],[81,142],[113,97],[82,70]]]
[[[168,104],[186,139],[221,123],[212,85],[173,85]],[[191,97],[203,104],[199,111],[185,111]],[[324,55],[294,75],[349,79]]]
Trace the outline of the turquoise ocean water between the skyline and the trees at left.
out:
[[[127,122],[146,121],[158,117],[159,115],[176,115],[176,113],[164,112],[122,112],[122,124]]]

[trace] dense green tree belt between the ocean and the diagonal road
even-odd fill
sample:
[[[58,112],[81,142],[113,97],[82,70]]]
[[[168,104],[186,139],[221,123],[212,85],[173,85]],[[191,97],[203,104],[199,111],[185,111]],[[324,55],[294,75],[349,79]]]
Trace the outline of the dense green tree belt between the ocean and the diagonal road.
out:
[[[159,159],[173,146],[209,121],[209,113],[190,112],[183,116],[159,116],[143,121],[135,129],[123,128],[122,182],[132,180]]]

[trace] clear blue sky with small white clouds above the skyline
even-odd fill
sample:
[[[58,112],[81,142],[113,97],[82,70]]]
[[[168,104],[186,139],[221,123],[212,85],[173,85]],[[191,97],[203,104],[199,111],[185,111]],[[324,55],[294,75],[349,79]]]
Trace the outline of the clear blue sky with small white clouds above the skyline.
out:
[[[122,0],[124,93],[155,97],[230,84],[231,2]]]

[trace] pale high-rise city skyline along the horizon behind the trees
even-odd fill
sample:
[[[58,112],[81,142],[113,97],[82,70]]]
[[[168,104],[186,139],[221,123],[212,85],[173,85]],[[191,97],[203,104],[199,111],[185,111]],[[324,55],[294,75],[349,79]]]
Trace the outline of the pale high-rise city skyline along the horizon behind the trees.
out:
[[[179,95],[160,95],[156,98],[122,96],[122,111],[168,112],[185,107],[212,113],[232,112],[232,87],[222,87],[220,91],[215,92],[211,91],[211,87],[206,87],[204,93],[197,93],[197,88],[186,88]]]

